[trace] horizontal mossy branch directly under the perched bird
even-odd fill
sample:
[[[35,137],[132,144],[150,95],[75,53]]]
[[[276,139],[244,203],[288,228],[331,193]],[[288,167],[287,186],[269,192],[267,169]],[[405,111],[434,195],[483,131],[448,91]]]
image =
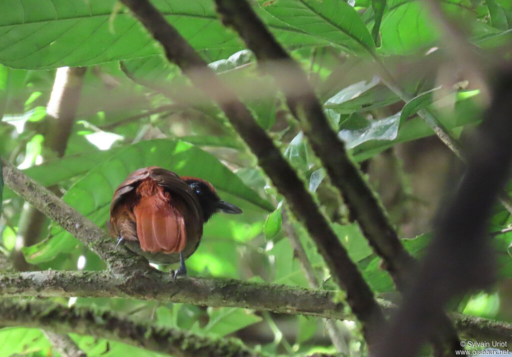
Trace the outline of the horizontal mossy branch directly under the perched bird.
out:
[[[158,270],[136,276],[109,271],[31,271],[0,275],[3,297],[103,297],[229,306],[344,319],[335,292],[234,279],[180,278]]]

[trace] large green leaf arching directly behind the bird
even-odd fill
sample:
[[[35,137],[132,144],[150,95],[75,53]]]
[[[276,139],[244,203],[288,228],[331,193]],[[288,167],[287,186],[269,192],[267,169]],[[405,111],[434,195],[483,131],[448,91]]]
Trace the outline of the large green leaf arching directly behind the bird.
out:
[[[110,201],[119,183],[140,167],[152,165],[165,167],[179,175],[208,180],[221,197],[233,197],[231,200],[236,204],[244,206],[245,201],[266,211],[273,210],[269,202],[247,187],[214,156],[189,143],[165,139],[142,141],[117,151],[78,180],[63,196],[63,200],[102,226],[109,218]],[[59,253],[75,249],[79,244],[60,227],[53,227],[51,235],[49,240],[25,247],[26,259],[34,264],[45,262]]]

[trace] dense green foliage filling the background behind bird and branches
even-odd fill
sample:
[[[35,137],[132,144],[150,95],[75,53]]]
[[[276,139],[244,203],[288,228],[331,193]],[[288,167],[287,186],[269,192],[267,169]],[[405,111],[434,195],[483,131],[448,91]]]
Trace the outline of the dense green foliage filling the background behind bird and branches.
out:
[[[279,146],[375,294],[396,302],[398,293],[391,277],[380,266],[380,258],[357,221],[349,217],[283,94],[258,67],[238,34],[222,24],[214,1],[152,3],[236,91]],[[478,58],[489,59],[489,63],[491,58],[510,55],[512,3],[445,0],[438,4],[439,11],[431,11],[429,2],[407,0],[251,2],[307,73],[332,129],[368,174],[365,177],[375,194],[381,195],[404,238],[403,245],[415,257],[421,257],[429,242],[430,219],[444,189],[439,182],[449,166],[432,161],[457,162],[450,152],[453,148],[447,148],[446,140],[439,144],[433,128],[456,142],[461,133],[481,121],[488,103],[485,77],[480,76],[486,73],[472,72],[483,68],[453,43],[459,41],[470,52],[478,50]],[[139,167],[158,165],[206,179],[244,214],[219,214],[207,223],[199,249],[187,260],[190,276],[310,287],[301,267],[304,262],[288,239],[293,235],[305,247],[321,289],[339,289],[329,279],[330,272],[307,232],[294,220],[286,201],[224,113],[177,66],[169,64],[161,47],[130,11],[113,0],[22,0],[2,2],[0,13],[3,159],[52,187],[102,227],[115,188]],[[48,104],[52,103],[50,96],[59,95],[55,88],[60,67],[87,67],[79,79],[83,84],[78,85],[80,101],[71,118],[69,138],[59,130],[61,113]],[[63,156],[55,150],[59,140],[65,141]],[[423,151],[429,150],[434,156],[422,162],[427,161]],[[407,164],[415,161],[415,155],[421,169],[413,170]],[[386,169],[379,169],[382,165]],[[415,191],[426,181],[437,182],[432,186],[434,192]],[[0,195],[2,188],[3,269],[106,268],[96,254],[48,218],[37,225],[25,201],[0,181]],[[497,204],[489,232],[508,223],[510,213]],[[507,280],[512,277],[507,251],[510,234],[496,234],[492,239],[499,283],[492,290],[461,298],[451,308],[508,321],[512,319],[505,300],[510,297]],[[29,264],[16,263],[16,251]],[[53,300],[113,310],[200,335],[238,336],[271,355],[336,352],[325,333],[325,321],[314,317],[121,298]],[[343,353],[366,355],[359,325],[350,320],[354,319],[336,322],[343,331]],[[117,341],[70,336],[91,356],[161,355]],[[25,327],[0,329],[0,351],[2,355],[59,355],[40,330]]]

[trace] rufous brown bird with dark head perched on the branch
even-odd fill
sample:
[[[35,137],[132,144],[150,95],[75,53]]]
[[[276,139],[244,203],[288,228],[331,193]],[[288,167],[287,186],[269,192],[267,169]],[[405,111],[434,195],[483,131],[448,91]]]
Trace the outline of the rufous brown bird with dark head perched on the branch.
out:
[[[186,275],[185,259],[196,251],[203,224],[216,212],[242,213],[220,199],[215,188],[195,177],[180,177],[158,166],[134,171],[117,187],[107,228],[147,260],[180,262],[175,277]]]

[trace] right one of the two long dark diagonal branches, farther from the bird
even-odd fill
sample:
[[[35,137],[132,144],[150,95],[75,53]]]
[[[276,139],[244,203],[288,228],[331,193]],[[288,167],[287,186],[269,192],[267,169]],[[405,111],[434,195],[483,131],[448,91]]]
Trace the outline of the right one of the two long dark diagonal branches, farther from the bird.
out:
[[[344,143],[331,129],[303,70],[275,40],[246,1],[215,1],[224,24],[232,26],[239,33],[263,68],[281,87],[288,107],[301,122],[304,134],[322,160],[332,183],[343,194],[352,217],[357,220],[376,253],[382,257],[398,287],[403,287],[414,259],[403,248],[382,206],[348,157]]]

